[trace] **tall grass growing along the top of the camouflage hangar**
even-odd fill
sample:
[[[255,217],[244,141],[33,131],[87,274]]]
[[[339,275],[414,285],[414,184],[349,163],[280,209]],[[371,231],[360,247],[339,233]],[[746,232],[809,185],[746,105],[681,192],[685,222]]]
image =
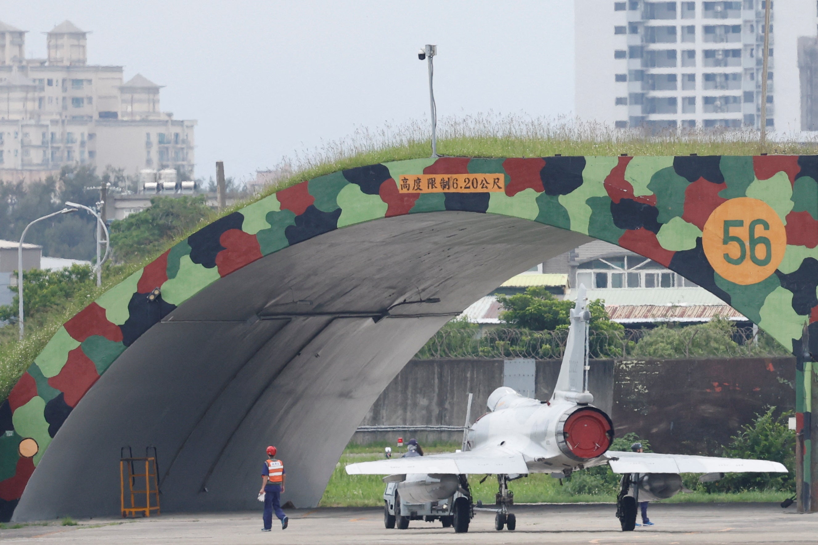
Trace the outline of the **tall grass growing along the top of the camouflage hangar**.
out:
[[[555,154],[753,155],[762,152],[757,138],[758,133],[751,130],[685,130],[649,134],[638,130],[613,129],[601,123],[580,122],[571,118],[532,118],[524,114],[478,114],[446,117],[438,122],[438,154],[460,157],[547,157]],[[345,138],[326,141],[312,150],[295,153],[290,159],[282,159],[276,168],[290,169],[292,173],[289,176],[222,212],[213,212],[211,217],[195,229],[169,240],[163,252],[218,217],[226,216],[300,181],[347,168],[428,157],[429,150],[429,126],[426,121],[416,120],[398,126],[384,123],[374,130],[358,127]],[[815,154],[818,152],[818,141],[768,141],[766,151],[770,154]],[[227,168],[229,172],[229,163]],[[0,400],[6,399],[20,375],[28,369],[65,321],[158,255],[160,254],[110,268],[101,288],[78,293],[74,300],[59,311],[45,312],[36,321],[27,322],[22,342],[17,340],[17,328],[14,324],[0,329]]]

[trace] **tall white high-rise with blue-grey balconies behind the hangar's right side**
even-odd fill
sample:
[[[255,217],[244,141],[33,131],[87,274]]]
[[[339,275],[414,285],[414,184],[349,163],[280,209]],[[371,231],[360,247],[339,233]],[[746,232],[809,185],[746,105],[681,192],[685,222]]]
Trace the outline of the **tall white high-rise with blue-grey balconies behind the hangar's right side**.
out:
[[[758,127],[765,0],[575,0],[576,110],[619,128]],[[818,130],[818,2],[772,0],[766,124]]]

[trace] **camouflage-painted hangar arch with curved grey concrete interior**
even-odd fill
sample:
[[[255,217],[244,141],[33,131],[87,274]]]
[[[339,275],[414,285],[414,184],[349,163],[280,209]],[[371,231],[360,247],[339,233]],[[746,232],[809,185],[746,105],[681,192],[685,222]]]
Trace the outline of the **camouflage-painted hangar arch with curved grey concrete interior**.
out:
[[[502,175],[502,188],[413,192],[470,174]],[[441,158],[281,190],[60,328],[0,407],[0,516],[117,512],[122,444],[158,446],[163,507],[189,511],[255,507],[258,452],[273,441],[299,482],[285,499],[314,505],[363,414],[434,331],[587,237],[669,266],[799,355],[808,431],[816,180],[816,156]]]

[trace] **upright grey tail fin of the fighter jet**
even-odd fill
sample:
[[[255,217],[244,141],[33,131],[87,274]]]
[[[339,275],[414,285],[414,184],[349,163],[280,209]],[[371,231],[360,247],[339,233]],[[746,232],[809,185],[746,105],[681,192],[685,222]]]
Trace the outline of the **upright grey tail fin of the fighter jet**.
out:
[[[580,284],[577,290],[577,303],[571,309],[568,340],[565,342],[565,352],[560,376],[554,387],[552,399],[575,401],[577,403],[593,403],[594,396],[587,391],[587,357],[588,357],[588,325],[591,323],[591,312],[587,309],[588,297],[585,284]]]

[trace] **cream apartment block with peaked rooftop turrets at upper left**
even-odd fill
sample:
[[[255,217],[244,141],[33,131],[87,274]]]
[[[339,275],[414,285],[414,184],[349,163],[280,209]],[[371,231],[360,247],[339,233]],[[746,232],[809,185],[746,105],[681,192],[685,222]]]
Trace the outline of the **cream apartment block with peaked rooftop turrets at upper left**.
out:
[[[88,65],[70,21],[47,33],[47,59],[25,58],[25,31],[0,22],[0,180],[32,181],[64,165],[194,173],[196,121],[160,109],[160,86],[122,66]]]

